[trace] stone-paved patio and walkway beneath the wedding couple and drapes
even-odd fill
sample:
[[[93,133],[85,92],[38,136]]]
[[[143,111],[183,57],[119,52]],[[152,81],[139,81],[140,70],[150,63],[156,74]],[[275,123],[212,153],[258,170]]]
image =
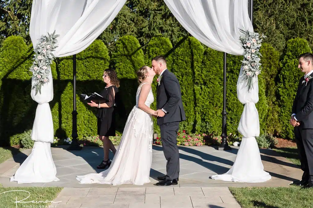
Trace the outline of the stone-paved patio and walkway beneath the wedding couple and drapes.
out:
[[[79,184],[76,175],[101,172],[96,166],[103,158],[101,147],[84,147],[81,151],[67,151],[67,146],[51,148],[60,181],[49,183],[17,184],[10,182],[20,164],[30,154],[24,150],[0,164],[0,183],[7,186],[61,186],[57,207],[240,207],[228,190],[229,186],[288,186],[290,181],[300,179],[298,166],[270,149],[260,149],[264,170],[272,179],[264,183],[239,183],[209,179],[222,174],[233,165],[239,147],[231,151],[218,151],[214,147],[179,146],[179,184],[171,187],[156,187],[156,177],[165,174],[166,160],[162,147],[153,146],[150,172],[151,183],[143,186],[106,184]],[[110,155],[113,158],[113,155]]]

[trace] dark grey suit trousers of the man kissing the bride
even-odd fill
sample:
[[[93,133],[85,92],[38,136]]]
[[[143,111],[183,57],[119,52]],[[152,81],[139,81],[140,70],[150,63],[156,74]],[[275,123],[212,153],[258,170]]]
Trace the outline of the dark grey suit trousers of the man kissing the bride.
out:
[[[177,146],[177,132],[179,122],[163,123],[160,125],[161,140],[166,163],[166,179],[179,177],[179,152]]]

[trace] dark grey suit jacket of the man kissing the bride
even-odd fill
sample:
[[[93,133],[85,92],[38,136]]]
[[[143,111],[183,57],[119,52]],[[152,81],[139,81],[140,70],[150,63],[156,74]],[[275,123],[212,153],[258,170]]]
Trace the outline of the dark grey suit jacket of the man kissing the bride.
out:
[[[186,120],[179,82],[168,69],[163,72],[160,85],[156,85],[156,108],[167,112],[157,118],[158,125]]]

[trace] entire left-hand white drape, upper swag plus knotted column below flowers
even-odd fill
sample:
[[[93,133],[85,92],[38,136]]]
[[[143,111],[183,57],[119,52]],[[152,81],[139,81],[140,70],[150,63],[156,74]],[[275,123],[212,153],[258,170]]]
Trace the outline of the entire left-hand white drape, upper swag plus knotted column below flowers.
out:
[[[35,48],[41,35],[60,35],[55,57],[70,56],[87,48],[124,6],[126,0],[33,0],[29,34]],[[32,84],[35,79],[32,79]],[[49,102],[53,99],[53,80],[41,88],[41,94],[31,91],[38,103],[32,129],[33,150],[10,181],[18,183],[59,180],[52,160],[50,144],[54,129]]]

